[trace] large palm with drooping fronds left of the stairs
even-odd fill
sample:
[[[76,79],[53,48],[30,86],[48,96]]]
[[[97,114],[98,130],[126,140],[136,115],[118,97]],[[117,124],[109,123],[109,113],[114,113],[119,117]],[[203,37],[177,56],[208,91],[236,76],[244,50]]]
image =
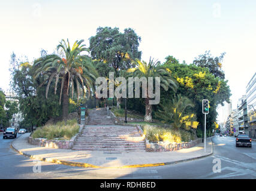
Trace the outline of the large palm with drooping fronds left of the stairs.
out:
[[[71,95],[73,99],[74,91],[77,93],[77,102],[79,101],[80,88],[85,96],[86,90],[91,96],[91,89],[94,90],[94,82],[97,78],[97,71],[91,64],[91,58],[86,55],[81,55],[88,51],[83,40],[74,42],[73,47],[70,47],[70,42],[65,42],[64,39],[59,43],[57,50],[62,51],[62,56],[57,54],[50,54],[43,56],[34,61],[35,74],[34,78],[43,75],[44,82],[47,81],[46,98],[53,78],[55,79],[55,94],[58,86],[58,81],[61,79],[61,91],[59,96],[59,104],[62,98],[62,119],[67,119],[68,104],[69,104],[69,90],[71,88]],[[40,86],[41,86],[40,85]],[[86,90],[85,90],[86,87]]]

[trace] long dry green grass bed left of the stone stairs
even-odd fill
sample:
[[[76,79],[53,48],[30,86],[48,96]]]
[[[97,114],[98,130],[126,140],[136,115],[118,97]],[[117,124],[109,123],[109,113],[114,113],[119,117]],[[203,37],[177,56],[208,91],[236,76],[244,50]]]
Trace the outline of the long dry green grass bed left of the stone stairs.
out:
[[[45,125],[37,128],[32,134],[32,138],[47,138],[49,140],[58,138],[58,140],[70,140],[71,137],[79,132],[77,120],[59,121],[55,125]]]

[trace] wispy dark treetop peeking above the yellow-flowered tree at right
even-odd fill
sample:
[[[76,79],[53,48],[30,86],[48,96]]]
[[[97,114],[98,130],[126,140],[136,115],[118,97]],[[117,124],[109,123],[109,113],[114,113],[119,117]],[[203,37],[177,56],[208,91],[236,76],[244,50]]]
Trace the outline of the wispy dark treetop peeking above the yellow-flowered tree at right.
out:
[[[221,69],[221,62],[223,61],[225,54],[226,53],[221,53],[221,56],[213,57],[212,54],[210,54],[210,51],[206,51],[204,54],[196,57],[193,63],[195,64],[195,66],[207,67],[215,77],[225,79],[225,73]]]

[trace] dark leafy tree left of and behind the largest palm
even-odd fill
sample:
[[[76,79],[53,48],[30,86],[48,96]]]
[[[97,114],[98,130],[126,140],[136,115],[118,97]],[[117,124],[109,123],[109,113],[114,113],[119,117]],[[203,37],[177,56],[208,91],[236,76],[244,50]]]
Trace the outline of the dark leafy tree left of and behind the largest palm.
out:
[[[17,94],[19,100],[19,109],[22,112],[24,120],[20,127],[31,128],[40,127],[50,118],[56,118],[61,115],[59,106],[59,97],[54,94],[54,87],[49,88],[49,96],[46,99],[45,90],[47,84],[43,84],[46,75],[38,76],[34,80],[35,67],[25,62],[19,63],[18,67],[12,71],[11,87]],[[58,87],[61,84],[58,82]]]

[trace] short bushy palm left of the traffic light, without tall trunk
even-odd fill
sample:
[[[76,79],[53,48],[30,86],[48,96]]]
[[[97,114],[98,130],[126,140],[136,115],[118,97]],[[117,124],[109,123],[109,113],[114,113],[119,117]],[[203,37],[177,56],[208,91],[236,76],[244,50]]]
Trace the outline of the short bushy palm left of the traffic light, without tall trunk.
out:
[[[187,112],[188,107],[194,107],[194,104],[187,97],[182,97],[180,94],[173,100],[168,100],[167,103],[160,104],[162,110],[158,110],[155,115],[164,122],[170,123],[174,130],[184,128],[197,128],[198,122],[195,121],[196,116],[192,112]]]

